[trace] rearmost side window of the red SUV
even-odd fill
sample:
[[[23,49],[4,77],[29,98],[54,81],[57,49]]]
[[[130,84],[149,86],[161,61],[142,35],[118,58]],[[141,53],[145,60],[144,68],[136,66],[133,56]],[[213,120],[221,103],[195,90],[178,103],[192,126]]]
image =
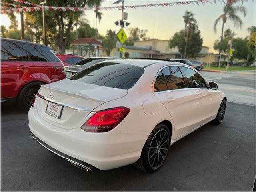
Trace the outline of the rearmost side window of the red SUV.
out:
[[[28,54],[32,61],[49,61],[49,56],[45,54],[40,46],[35,46],[32,44],[22,44],[22,48]],[[51,61],[51,60],[50,60]]]

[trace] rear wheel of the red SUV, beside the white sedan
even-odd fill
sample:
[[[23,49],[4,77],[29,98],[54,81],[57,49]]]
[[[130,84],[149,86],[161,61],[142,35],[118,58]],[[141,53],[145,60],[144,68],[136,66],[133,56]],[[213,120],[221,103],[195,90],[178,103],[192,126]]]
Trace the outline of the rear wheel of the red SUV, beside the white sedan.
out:
[[[31,82],[26,84],[18,96],[18,106],[24,110],[29,110],[32,105],[32,100],[43,82]]]

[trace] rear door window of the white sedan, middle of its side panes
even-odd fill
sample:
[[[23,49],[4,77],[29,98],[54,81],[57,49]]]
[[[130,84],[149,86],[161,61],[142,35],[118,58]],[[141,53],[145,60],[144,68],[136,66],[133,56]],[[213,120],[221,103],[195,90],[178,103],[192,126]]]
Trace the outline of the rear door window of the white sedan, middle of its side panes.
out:
[[[162,73],[166,78],[168,90],[186,88],[185,80],[177,66],[166,67]]]

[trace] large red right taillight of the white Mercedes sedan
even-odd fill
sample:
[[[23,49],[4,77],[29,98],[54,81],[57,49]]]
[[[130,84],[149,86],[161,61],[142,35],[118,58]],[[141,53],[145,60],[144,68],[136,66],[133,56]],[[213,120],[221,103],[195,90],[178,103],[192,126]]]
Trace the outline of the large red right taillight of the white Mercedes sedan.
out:
[[[108,132],[114,129],[130,112],[126,107],[110,108],[96,112],[81,127],[87,132]]]

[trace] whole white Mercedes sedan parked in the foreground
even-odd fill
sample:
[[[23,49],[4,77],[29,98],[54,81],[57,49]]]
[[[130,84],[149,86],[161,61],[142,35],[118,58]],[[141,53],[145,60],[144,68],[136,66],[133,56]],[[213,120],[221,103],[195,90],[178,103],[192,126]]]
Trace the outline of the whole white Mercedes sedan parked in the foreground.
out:
[[[28,118],[32,138],[79,168],[154,172],[171,144],[225,110],[217,84],[186,64],[117,59],[42,85]]]

